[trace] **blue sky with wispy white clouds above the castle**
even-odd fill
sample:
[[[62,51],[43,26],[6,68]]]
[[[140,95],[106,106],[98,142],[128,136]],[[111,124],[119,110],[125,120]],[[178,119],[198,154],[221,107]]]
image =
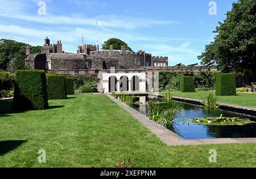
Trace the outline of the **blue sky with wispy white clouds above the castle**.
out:
[[[213,40],[215,27],[235,0],[215,0],[217,15],[209,15],[209,0],[45,0],[46,15],[37,0],[0,0],[0,39],[31,45],[61,40],[75,53],[84,35],[86,44],[109,38],[125,41],[134,51],[168,56],[169,65],[200,63],[197,56]]]

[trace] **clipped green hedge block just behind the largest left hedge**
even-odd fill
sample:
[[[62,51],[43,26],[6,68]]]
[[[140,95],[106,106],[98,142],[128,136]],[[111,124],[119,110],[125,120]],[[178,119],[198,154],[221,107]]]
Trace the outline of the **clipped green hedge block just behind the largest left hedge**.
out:
[[[57,74],[47,74],[48,99],[67,98],[65,88],[65,77]]]

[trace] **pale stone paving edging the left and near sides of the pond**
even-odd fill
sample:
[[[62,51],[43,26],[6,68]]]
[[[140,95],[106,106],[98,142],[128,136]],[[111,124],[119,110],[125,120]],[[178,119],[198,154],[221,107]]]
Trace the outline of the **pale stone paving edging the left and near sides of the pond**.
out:
[[[170,146],[176,145],[201,145],[201,144],[231,144],[231,143],[256,143],[256,138],[218,138],[218,139],[196,139],[196,140],[185,140],[175,134],[174,132],[168,130],[167,128],[161,126],[160,124],[148,119],[142,113],[125,105],[118,99],[114,98],[112,95],[106,94],[110,99],[116,102],[120,107],[125,109],[130,113],[135,119],[141,122],[145,127],[147,127],[151,132],[153,132],[160,140]],[[157,94],[159,95],[159,94]]]

